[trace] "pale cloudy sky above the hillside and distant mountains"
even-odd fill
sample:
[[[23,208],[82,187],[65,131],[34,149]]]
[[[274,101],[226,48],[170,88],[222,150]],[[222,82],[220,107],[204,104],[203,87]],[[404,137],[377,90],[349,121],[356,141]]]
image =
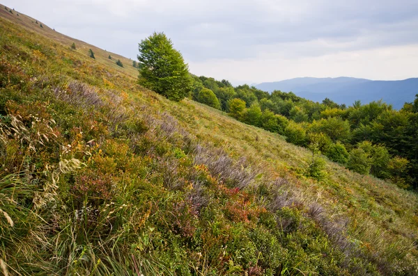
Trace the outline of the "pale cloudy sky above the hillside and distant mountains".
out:
[[[417,0],[3,0],[56,31],[136,58],[153,31],[197,75],[418,77]]]

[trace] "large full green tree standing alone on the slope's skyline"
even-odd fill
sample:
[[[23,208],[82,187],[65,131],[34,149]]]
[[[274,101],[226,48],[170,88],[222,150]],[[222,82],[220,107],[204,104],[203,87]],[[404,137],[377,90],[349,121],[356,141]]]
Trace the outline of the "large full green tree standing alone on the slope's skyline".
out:
[[[153,33],[139,43],[139,84],[181,101],[192,91],[187,64],[164,33]]]

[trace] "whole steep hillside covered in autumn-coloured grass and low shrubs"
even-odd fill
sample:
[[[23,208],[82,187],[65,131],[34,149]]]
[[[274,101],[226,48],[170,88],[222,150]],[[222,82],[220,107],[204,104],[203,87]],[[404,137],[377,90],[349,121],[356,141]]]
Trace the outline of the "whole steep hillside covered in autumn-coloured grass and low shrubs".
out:
[[[308,149],[32,22],[0,8],[4,274],[418,274],[417,194],[307,177]]]

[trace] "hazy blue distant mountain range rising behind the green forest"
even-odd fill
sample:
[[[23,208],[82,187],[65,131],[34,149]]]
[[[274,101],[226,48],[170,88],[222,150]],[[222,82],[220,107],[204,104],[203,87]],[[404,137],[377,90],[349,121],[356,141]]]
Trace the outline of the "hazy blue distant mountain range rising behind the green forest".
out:
[[[382,99],[394,108],[402,108],[405,102],[413,102],[418,94],[418,78],[403,81],[371,81],[346,76],[339,78],[296,78],[271,83],[260,83],[256,88],[272,92],[281,90],[322,102],[329,98],[347,106],[360,100],[362,104]]]

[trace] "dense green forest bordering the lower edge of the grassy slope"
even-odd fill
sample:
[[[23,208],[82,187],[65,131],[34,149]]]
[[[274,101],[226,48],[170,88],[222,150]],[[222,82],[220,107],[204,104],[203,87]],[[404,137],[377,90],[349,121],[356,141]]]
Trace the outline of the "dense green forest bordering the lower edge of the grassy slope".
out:
[[[321,178],[323,156],[360,174],[401,188],[418,188],[418,94],[395,110],[381,100],[352,106],[325,98],[312,102],[293,92],[271,94],[254,86],[192,76],[192,99],[231,117],[279,133],[312,151],[310,168]]]

